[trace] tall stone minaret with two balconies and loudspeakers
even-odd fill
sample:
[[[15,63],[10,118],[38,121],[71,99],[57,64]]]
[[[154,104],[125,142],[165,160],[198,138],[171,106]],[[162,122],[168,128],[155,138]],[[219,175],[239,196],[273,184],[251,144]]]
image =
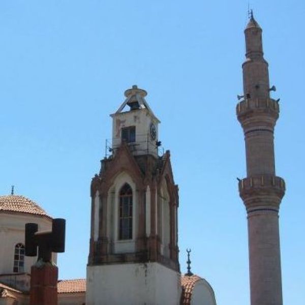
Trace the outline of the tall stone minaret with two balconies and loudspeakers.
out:
[[[236,107],[246,142],[247,177],[239,194],[248,214],[251,305],[282,305],[279,208],[285,182],[276,176],[273,132],[279,103],[270,98],[262,29],[251,15],[242,65],[244,100]]]

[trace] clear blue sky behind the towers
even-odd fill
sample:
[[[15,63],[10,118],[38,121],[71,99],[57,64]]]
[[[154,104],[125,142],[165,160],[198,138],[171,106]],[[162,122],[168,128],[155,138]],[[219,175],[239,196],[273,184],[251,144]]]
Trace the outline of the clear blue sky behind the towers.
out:
[[[281,114],[275,133],[284,303],[305,299],[304,17],[302,0],[252,1]],[[179,246],[218,305],[249,304],[246,175],[236,119],[247,1],[2,0],[0,193],[67,219],[62,279],[85,277],[89,186],[111,118],[133,84],[162,121],[180,189]]]

